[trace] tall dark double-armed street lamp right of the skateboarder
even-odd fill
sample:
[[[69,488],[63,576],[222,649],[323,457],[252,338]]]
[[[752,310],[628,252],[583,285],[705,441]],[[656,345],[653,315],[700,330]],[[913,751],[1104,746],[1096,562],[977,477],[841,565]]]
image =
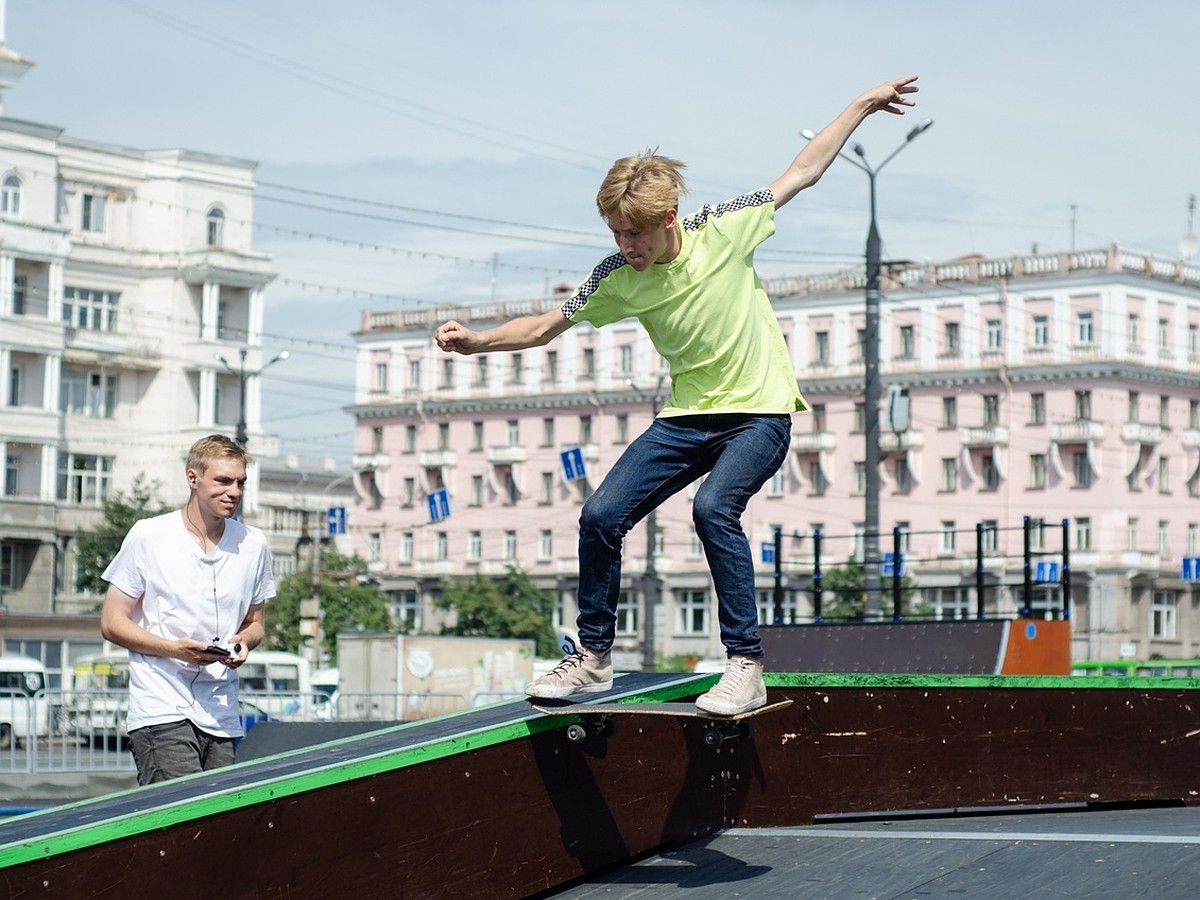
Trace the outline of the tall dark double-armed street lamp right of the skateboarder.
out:
[[[926,119],[908,132],[904,143],[893,150],[878,166],[866,162],[866,152],[862,144],[854,144],[852,150],[858,160],[839,152],[842,160],[854,168],[866,173],[871,188],[871,226],[866,232],[866,328],[864,335],[864,359],[866,384],[863,402],[866,408],[864,437],[866,439],[866,503],[863,534],[863,589],[866,593],[868,616],[880,608],[880,229],[875,220],[875,176],[893,157],[904,150],[918,134],[928,131],[934,124]],[[802,131],[800,137],[811,140],[816,137],[811,131]]]

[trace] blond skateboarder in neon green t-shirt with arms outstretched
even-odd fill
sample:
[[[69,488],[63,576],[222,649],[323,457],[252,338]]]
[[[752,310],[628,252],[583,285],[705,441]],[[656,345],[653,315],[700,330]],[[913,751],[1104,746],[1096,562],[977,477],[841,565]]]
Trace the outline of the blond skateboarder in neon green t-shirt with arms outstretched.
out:
[[[754,250],[775,211],[816,184],[872,113],[914,106],[916,76],[854,100],[778,179],[725,203],[679,215],[684,164],[648,151],[618,160],[596,205],[617,244],[562,308],[486,331],[457,322],[437,330],[448,353],[540,347],[578,322],[599,328],[636,317],[671,371],[671,398],[629,445],[580,516],[580,647],[527,694],[560,698],[612,686],[611,649],[625,534],[652,509],[704,476],[692,503],[713,575],[727,662],[700,709],[736,715],[767,701],[754,558],[740,517],[787,454],[792,413],[806,409]]]

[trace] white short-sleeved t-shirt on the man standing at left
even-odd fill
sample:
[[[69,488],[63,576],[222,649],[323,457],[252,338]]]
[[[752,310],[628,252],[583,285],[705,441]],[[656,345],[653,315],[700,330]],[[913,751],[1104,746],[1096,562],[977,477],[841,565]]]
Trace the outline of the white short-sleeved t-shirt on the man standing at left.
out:
[[[227,520],[216,550],[205,556],[180,510],[134,523],[102,577],[139,598],[133,622],[168,640],[224,641],[251,606],[275,596],[271,553],[259,529]],[[180,719],[210,734],[241,737],[238,671],[131,650],[128,730]]]

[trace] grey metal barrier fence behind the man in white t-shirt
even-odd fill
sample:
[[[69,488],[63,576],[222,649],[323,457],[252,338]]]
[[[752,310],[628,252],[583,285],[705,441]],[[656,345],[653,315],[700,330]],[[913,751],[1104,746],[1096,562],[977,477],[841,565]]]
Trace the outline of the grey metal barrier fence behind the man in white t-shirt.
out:
[[[412,721],[516,696],[242,690],[238,706],[248,732],[264,721]],[[127,690],[0,692],[0,774],[131,772],[127,709]]]

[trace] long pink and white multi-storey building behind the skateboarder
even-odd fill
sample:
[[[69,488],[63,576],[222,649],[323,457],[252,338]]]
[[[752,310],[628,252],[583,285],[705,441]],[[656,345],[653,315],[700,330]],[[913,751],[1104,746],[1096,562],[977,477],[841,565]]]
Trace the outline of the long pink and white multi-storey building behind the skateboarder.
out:
[[[780,529],[784,617],[804,622],[814,533],[824,568],[863,552],[863,276],[767,289],[812,409],[797,414],[787,463],[743,521],[756,556]],[[634,320],[578,325],[523,353],[449,356],[432,342],[448,318],[486,328],[562,299],[366,313],[355,335],[350,530],[422,630],[439,625],[427,601],[440,578],[510,565],[554,592],[557,624],[574,623],[580,506],[648,425],[666,390],[661,360]],[[1045,563],[1062,562],[1067,520],[1075,656],[1200,654],[1200,593],[1182,578],[1200,556],[1200,265],[1110,247],[896,268],[880,341],[893,401],[881,410],[881,547],[899,527],[922,602],[974,614],[983,523],[988,614],[1015,614],[1022,520]],[[431,496],[446,504],[431,512]],[[689,499],[656,515],[654,646],[719,656]],[[642,523],[626,540],[618,611],[631,660],[648,551]],[[774,565],[758,570],[769,622]],[[1038,584],[1037,614],[1061,605],[1058,584]]]

